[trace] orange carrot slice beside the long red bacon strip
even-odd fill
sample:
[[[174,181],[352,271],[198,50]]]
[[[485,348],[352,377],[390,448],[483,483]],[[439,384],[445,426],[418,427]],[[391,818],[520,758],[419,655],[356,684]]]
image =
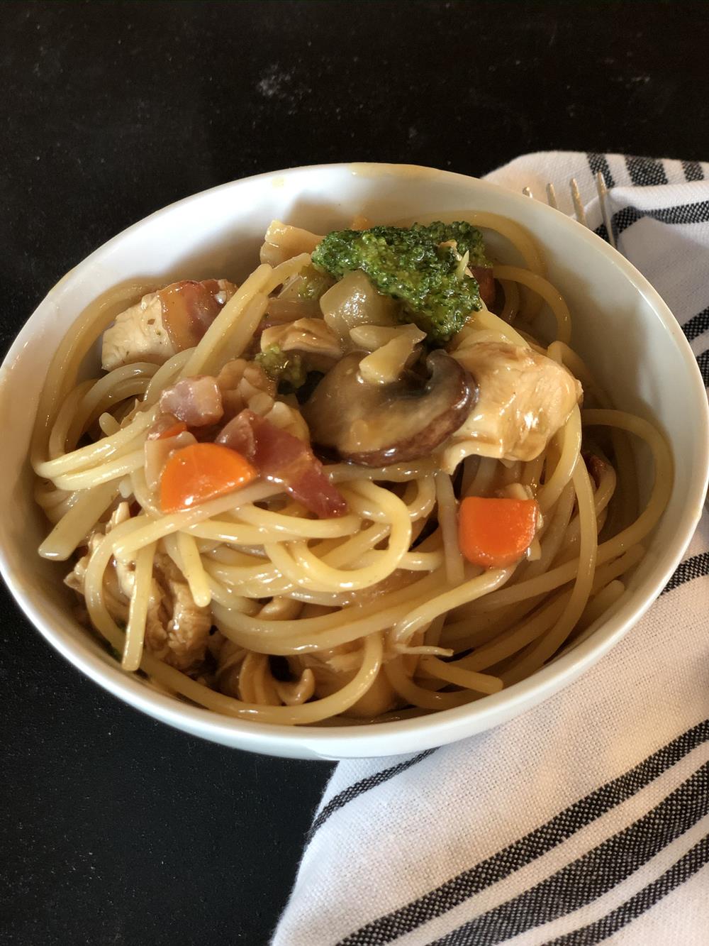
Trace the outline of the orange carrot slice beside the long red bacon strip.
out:
[[[224,496],[245,486],[258,474],[240,453],[220,444],[192,444],[175,450],[164,464],[160,504],[164,513]]]

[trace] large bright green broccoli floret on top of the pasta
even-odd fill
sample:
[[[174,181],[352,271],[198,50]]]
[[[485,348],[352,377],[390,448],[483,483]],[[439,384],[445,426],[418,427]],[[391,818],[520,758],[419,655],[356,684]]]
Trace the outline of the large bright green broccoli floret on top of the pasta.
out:
[[[455,241],[456,246],[441,244]],[[403,303],[401,319],[414,322],[430,342],[442,344],[481,307],[476,279],[468,266],[489,266],[482,234],[470,223],[372,227],[328,234],[312,254],[313,265],[341,279],[362,270],[379,292]]]

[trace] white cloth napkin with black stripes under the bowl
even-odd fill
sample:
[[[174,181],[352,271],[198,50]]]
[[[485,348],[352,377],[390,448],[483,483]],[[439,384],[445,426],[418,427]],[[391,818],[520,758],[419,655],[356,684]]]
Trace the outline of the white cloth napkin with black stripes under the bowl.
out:
[[[709,383],[709,165],[538,153],[490,180],[611,188],[618,248]],[[571,204],[562,209],[571,211]],[[597,201],[591,225],[604,233]],[[341,762],[273,946],[709,944],[709,514],[643,621],[504,726]]]

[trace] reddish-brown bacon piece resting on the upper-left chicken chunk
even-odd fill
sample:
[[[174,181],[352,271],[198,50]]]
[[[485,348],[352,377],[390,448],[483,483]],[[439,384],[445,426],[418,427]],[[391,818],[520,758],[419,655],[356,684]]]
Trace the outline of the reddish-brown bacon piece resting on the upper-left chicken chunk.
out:
[[[193,348],[215,321],[236,287],[227,279],[192,279],[158,290],[163,324],[176,351]]]

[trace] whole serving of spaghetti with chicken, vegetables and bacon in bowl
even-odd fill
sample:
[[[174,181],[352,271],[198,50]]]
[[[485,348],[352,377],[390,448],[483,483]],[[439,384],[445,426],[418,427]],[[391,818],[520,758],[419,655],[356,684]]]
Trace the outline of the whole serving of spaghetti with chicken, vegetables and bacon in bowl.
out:
[[[239,287],[127,285],[81,313],[32,440],[40,554],[72,560],[125,672],[227,716],[386,723],[485,698],[618,601],[671,488],[664,436],[614,410],[571,337],[509,219],[274,221]]]

